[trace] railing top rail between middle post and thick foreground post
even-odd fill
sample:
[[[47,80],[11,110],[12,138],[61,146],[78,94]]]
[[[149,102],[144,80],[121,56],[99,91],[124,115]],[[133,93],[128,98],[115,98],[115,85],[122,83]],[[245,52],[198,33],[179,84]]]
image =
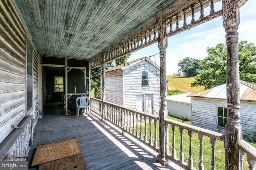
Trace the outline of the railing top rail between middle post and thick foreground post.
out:
[[[175,126],[183,128],[183,129],[187,129],[189,131],[193,131],[193,132],[202,134],[204,136],[213,137],[213,138],[218,139],[220,141],[225,140],[225,135],[222,134],[222,133],[210,131],[210,130],[207,130],[207,129],[204,129],[204,128],[201,128],[201,127],[197,127],[197,126],[194,126],[194,125],[188,125],[186,123],[182,123],[182,122],[175,121],[175,120],[172,120],[172,119],[164,119],[164,121],[165,121],[165,123],[175,125]]]

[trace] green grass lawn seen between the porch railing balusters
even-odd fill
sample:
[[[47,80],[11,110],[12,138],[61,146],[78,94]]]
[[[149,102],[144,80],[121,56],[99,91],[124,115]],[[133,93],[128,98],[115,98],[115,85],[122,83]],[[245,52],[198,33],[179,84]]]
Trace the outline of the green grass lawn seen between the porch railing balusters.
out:
[[[181,121],[182,119],[169,116],[169,119],[173,119],[176,121]],[[191,124],[191,121],[184,120],[184,123]],[[152,141],[154,143],[154,123],[152,123]],[[139,135],[140,135],[140,126]],[[157,130],[157,141],[159,141],[159,124],[156,125]],[[142,135],[144,138],[144,123],[142,128]],[[147,123],[147,140],[149,141],[149,123]],[[200,143],[198,139],[198,133],[194,133],[192,137],[192,158],[194,160],[194,167],[198,169],[199,164],[199,149]],[[252,143],[250,143],[252,145]],[[255,147],[256,144],[253,144]],[[158,143],[159,147],[159,143]],[[180,131],[179,128],[176,127],[175,129],[175,150],[176,150],[176,157],[179,158],[180,155]],[[188,156],[189,156],[189,135],[188,130],[184,130],[183,133],[183,152],[184,152],[184,162],[188,163]],[[172,153],[172,126],[169,125],[169,153]],[[205,170],[210,170],[211,166],[211,156],[212,156],[212,145],[210,143],[210,137],[204,136],[203,139],[203,164]],[[225,169],[225,149],[224,149],[224,142],[216,140],[215,145],[215,160],[216,160],[216,170],[224,170]],[[246,155],[244,156],[244,170],[248,170],[248,162],[246,161]]]

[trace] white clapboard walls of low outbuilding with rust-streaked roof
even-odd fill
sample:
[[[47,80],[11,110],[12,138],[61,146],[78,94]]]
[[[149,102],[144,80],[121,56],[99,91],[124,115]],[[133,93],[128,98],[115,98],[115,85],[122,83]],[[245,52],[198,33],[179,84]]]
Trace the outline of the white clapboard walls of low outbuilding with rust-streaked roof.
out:
[[[216,126],[216,107],[226,107],[226,100],[192,98],[192,125],[218,132]],[[248,134],[256,129],[256,103],[240,102],[240,120],[243,133]],[[221,128],[224,133],[224,128]]]

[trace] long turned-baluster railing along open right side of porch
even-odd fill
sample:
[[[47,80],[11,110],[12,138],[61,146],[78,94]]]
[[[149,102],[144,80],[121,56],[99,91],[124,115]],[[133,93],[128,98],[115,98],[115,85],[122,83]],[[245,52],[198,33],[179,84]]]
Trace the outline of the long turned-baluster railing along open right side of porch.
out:
[[[102,112],[102,108],[104,109],[104,112]],[[120,129],[122,129],[123,132],[126,132],[136,139],[142,141],[149,147],[153,148],[154,150],[159,152],[159,134],[157,131],[158,124],[159,124],[159,118],[156,115],[146,114],[141,111],[129,109],[124,106],[116,105],[110,102],[104,102],[104,107],[102,107],[102,100],[98,100],[95,98],[91,98],[91,110],[94,113],[97,113],[101,117],[104,117],[104,119],[108,120],[112,124],[116,125]],[[102,115],[104,113],[104,115]],[[225,135],[222,133],[217,133],[214,131],[210,131],[204,128],[196,127],[193,125],[188,125],[186,123],[174,121],[171,119],[165,119],[165,128],[170,128],[169,136],[170,138],[168,140],[169,144],[172,146],[166,146],[167,152],[166,152],[166,158],[177,162],[181,166],[184,166],[189,169],[197,169],[199,170],[204,169],[204,161],[203,161],[203,143],[206,143],[206,140],[204,141],[204,137],[209,137],[209,144],[208,147],[206,147],[210,151],[211,156],[211,169],[214,170],[216,167],[216,140],[223,142],[224,147],[224,141],[225,141]],[[176,137],[176,127],[179,128],[178,131],[178,138]],[[186,134],[184,132],[186,131]],[[198,139],[195,139],[195,134],[198,135]],[[188,136],[188,141],[186,141],[186,145],[189,145],[188,151],[184,151],[184,136]],[[193,137],[194,135],[194,137]],[[193,142],[192,142],[193,141]],[[194,143],[199,143],[199,148],[196,145],[193,145]],[[176,144],[179,145],[176,147]],[[210,145],[210,146],[209,146]],[[170,149],[169,149],[170,148]],[[249,169],[254,170],[254,166],[256,164],[256,148],[252,147],[250,144],[248,144],[246,141],[241,140],[239,142],[239,149],[240,154],[244,155],[244,152],[247,154],[247,161],[249,164]],[[176,156],[176,150],[179,151],[178,157]],[[196,150],[199,152],[199,158],[196,157],[196,155],[193,155],[192,150]],[[206,151],[206,150],[204,150]],[[223,150],[224,151],[224,150]],[[224,151],[225,152],[225,151]],[[223,156],[225,154],[223,153]],[[186,159],[185,159],[186,158]],[[194,160],[197,159],[198,164],[194,166]],[[223,157],[224,159],[224,157]],[[241,161],[241,164],[243,160]],[[218,162],[217,162],[218,163]]]

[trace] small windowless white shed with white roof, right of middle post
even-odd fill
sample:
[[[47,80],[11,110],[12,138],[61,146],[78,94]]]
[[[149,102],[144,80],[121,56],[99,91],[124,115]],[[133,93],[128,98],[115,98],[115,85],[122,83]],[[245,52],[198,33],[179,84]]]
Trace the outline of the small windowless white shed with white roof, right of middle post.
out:
[[[174,96],[167,96],[167,110],[169,115],[179,117],[191,121],[191,93],[177,94]]]

